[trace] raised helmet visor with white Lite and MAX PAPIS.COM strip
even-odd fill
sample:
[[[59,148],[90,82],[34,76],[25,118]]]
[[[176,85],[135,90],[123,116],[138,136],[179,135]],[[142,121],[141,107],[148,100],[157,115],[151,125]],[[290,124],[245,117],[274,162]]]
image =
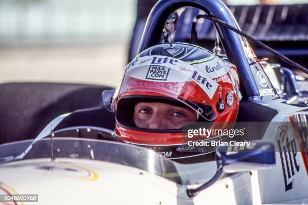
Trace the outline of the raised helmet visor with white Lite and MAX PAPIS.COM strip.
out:
[[[111,100],[105,92],[104,105],[115,112],[119,98],[129,95],[170,97],[195,110],[207,121],[223,113],[216,111],[217,102],[229,91],[202,70],[181,60],[164,56],[145,56],[127,65]],[[104,93],[103,93],[104,95]]]

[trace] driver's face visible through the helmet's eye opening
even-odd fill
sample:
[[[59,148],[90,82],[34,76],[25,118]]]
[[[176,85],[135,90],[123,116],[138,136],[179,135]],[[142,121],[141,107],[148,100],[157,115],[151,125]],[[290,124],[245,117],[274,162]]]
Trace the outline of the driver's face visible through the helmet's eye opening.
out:
[[[196,120],[194,110],[161,102],[138,102],[134,110],[134,123],[138,128],[181,129],[182,123]]]

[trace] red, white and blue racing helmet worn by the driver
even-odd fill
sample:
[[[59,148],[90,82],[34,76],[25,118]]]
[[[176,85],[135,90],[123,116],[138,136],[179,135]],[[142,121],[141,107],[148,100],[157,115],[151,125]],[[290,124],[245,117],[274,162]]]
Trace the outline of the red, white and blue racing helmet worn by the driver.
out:
[[[188,107],[196,112],[197,121],[211,122],[208,129],[215,128],[217,122],[236,120],[239,77],[236,66],[204,48],[185,43],[161,44],[137,55],[125,67],[113,97],[107,95],[103,93],[104,104],[116,113],[115,132],[123,141],[181,159],[206,152],[183,152],[189,148],[183,142],[182,129],[138,128],[133,122],[136,103]],[[223,129],[221,125],[219,129]]]

